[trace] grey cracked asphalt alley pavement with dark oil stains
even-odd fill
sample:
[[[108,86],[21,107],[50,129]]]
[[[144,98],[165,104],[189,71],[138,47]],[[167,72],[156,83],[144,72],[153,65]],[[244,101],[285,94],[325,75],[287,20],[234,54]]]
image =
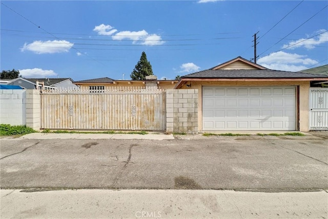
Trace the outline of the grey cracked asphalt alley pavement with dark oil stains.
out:
[[[194,186],[281,192],[328,188],[328,145],[326,139],[313,136],[1,139],[0,154],[2,189]]]

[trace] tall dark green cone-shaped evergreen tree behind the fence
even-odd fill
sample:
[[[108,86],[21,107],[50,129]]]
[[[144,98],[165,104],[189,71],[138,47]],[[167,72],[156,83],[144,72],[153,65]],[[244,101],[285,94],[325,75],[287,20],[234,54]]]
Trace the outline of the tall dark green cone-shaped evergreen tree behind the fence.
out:
[[[146,80],[146,76],[153,75],[152,65],[147,60],[147,55],[142,52],[140,60],[135,65],[130,77],[132,80]]]

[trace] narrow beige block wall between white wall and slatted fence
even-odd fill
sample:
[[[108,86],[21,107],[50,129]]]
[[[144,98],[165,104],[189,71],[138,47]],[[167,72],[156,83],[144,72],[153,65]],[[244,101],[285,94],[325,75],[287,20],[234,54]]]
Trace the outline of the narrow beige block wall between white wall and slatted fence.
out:
[[[26,126],[40,129],[40,91],[26,90]]]

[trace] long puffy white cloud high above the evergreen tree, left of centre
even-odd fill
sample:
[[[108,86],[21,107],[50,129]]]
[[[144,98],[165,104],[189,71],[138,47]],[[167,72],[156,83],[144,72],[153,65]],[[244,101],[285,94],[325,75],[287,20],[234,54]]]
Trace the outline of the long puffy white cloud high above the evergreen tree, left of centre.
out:
[[[112,36],[114,40],[132,40],[132,43],[139,45],[156,46],[165,43],[160,35],[149,34],[146,30],[117,32],[112,26],[101,24],[96,26],[93,31],[96,31],[99,35]]]

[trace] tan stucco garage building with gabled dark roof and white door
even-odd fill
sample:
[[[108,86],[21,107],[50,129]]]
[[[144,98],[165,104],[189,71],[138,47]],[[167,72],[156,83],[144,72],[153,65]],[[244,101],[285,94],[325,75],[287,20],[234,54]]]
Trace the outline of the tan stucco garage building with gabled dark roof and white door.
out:
[[[310,82],[327,80],[237,57],[182,76],[175,89],[198,89],[198,131],[308,131]]]

